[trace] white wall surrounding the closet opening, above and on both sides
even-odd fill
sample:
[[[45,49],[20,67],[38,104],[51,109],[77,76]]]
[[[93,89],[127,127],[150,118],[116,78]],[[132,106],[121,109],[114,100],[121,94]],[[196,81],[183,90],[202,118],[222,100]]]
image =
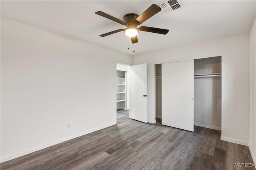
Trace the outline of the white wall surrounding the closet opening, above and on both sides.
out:
[[[222,56],[222,140],[248,145],[249,48],[249,33],[243,33],[134,56],[133,64],[148,63],[148,119],[155,120],[154,64]]]

